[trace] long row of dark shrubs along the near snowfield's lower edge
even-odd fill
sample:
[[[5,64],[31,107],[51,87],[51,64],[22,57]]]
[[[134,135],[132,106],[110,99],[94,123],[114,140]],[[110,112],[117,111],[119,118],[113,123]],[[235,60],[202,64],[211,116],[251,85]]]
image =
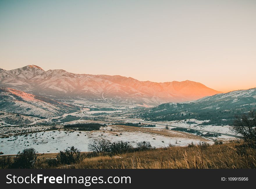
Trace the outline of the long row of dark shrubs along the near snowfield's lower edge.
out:
[[[129,142],[109,142],[108,140],[94,140],[88,145],[88,149],[92,153],[81,153],[81,150],[74,146],[68,147],[65,151],[60,151],[56,158],[45,159],[38,161],[37,153],[34,148],[27,148],[18,153],[16,157],[1,157],[0,168],[36,168],[41,167],[41,164],[47,164],[48,167],[56,167],[59,165],[76,164],[85,157],[95,157],[99,155],[114,155],[129,153],[134,151],[142,151],[153,149],[150,142],[138,142],[134,148]]]

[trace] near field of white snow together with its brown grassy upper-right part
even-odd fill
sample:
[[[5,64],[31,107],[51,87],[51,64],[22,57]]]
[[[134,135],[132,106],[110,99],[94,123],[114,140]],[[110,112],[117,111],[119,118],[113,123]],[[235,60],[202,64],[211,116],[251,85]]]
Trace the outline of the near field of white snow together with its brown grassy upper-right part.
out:
[[[141,128],[124,125],[109,125],[99,131],[77,131],[74,129],[56,129],[49,131],[10,135],[0,138],[0,148],[4,155],[15,155],[25,148],[34,148],[38,153],[57,153],[68,146],[75,146],[81,151],[88,151],[88,144],[94,139],[137,142],[149,141],[152,146],[161,148],[169,144],[186,146],[191,142],[212,141],[190,133],[167,129]],[[10,148],[12,146],[12,148]]]

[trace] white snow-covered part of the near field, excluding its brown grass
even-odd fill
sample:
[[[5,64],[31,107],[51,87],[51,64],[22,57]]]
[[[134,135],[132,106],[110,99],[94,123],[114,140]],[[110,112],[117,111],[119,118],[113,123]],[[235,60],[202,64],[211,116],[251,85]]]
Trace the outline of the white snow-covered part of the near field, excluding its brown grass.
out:
[[[104,132],[103,130],[80,131],[81,133],[79,133],[79,131],[70,132],[65,130],[42,131],[27,135],[0,138],[0,151],[2,151],[4,155],[10,155],[17,154],[25,148],[35,148],[38,153],[56,153],[60,150],[65,150],[68,146],[75,146],[81,151],[88,151],[89,142],[100,138],[111,142],[119,140],[129,141],[133,146],[136,146],[137,142],[149,141],[152,146],[157,148],[168,146],[168,144],[186,146],[191,142],[195,144],[200,142],[198,139],[189,139],[185,137],[168,137],[143,132],[111,132],[109,129],[109,127],[105,127]],[[118,134],[118,136],[116,136],[116,134]],[[209,141],[209,143],[213,142]]]

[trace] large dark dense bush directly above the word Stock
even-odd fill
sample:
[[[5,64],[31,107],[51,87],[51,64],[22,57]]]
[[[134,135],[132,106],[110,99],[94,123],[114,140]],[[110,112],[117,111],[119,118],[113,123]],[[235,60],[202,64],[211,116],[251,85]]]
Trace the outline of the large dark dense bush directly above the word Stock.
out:
[[[27,148],[22,151],[22,153],[17,154],[17,157],[14,159],[13,168],[34,168],[35,162],[37,159],[37,154],[35,153],[34,148]]]

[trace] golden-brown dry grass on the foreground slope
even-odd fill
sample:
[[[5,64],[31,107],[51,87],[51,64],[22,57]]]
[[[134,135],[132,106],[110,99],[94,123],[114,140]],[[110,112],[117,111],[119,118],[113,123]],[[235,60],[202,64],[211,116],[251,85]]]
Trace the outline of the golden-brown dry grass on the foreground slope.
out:
[[[158,148],[112,157],[99,156],[86,158],[79,164],[42,168],[256,168],[256,151],[243,147],[242,141],[235,141],[222,145]]]

